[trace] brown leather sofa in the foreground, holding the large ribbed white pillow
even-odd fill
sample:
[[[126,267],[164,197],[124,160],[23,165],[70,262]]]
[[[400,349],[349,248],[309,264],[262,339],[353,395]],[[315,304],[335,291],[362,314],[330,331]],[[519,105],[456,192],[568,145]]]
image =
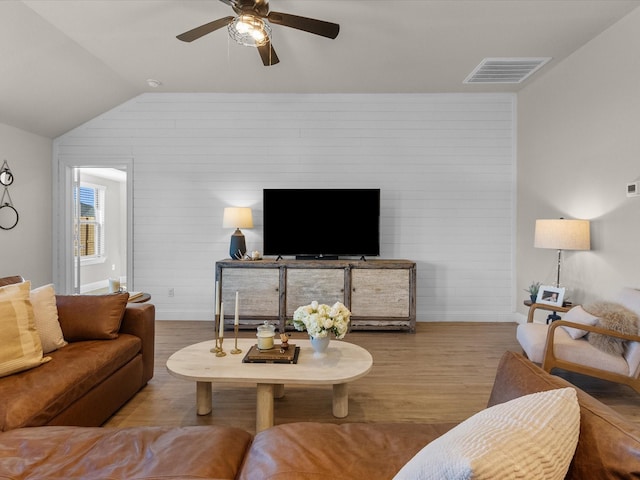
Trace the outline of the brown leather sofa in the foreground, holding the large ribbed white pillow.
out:
[[[489,405],[571,386],[506,352]],[[640,429],[583,391],[568,479],[640,478]],[[238,428],[39,427],[0,433],[0,479],[391,479],[454,424],[289,423]]]

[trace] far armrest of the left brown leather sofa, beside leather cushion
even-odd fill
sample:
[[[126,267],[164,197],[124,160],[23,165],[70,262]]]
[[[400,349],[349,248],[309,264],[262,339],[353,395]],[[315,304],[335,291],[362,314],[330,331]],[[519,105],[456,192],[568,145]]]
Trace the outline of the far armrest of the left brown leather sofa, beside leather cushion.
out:
[[[156,308],[152,303],[128,303],[124,311],[120,333],[135,335],[142,340],[142,379],[147,383],[153,377],[155,354]]]

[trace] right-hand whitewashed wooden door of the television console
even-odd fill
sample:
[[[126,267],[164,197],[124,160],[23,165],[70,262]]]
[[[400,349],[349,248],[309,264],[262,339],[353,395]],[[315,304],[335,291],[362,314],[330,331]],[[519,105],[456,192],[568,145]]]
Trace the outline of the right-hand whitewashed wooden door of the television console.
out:
[[[408,317],[407,269],[351,270],[351,313],[358,317]]]

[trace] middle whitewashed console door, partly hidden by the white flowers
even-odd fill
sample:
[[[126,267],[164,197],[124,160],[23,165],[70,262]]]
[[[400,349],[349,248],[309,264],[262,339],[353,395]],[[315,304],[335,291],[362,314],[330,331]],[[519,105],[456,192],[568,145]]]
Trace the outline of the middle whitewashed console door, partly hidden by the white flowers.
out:
[[[318,303],[333,305],[344,303],[344,268],[289,268],[287,269],[287,318],[301,305]]]

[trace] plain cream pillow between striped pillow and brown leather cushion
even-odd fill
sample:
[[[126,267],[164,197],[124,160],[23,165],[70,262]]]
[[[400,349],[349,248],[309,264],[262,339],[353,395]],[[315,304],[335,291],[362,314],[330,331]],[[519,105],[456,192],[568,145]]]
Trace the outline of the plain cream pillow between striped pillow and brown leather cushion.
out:
[[[53,285],[44,285],[31,290],[31,305],[33,305],[33,317],[42,342],[43,353],[64,347],[67,342],[64,340],[58,321],[56,292]]]

